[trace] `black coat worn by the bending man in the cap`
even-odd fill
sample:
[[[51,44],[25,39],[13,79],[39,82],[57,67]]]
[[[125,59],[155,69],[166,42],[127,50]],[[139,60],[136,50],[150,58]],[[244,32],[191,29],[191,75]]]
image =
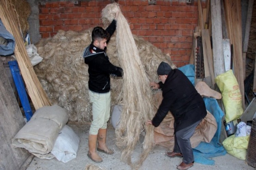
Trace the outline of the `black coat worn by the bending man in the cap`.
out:
[[[152,119],[154,126],[159,126],[169,111],[174,117],[174,132],[202,120],[207,115],[201,95],[182,71],[172,69],[165,83],[160,82],[159,85],[163,100]]]

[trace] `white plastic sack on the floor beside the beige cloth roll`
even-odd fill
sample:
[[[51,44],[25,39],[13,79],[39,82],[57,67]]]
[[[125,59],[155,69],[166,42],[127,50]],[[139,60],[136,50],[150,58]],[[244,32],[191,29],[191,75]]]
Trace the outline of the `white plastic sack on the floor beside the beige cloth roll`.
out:
[[[53,146],[51,153],[63,163],[76,158],[76,152],[79,147],[79,137],[74,133],[72,128],[65,125]]]

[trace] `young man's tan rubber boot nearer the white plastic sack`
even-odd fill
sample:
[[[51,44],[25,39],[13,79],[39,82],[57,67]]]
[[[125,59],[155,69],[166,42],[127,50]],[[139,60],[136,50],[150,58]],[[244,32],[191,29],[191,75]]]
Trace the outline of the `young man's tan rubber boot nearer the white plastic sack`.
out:
[[[94,162],[100,163],[102,162],[102,159],[96,152],[97,136],[98,135],[89,135],[89,139],[88,139],[89,151],[87,156]]]

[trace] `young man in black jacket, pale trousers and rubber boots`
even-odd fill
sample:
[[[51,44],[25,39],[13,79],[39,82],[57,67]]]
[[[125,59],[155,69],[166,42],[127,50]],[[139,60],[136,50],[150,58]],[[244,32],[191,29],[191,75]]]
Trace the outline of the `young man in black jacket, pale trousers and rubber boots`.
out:
[[[118,14],[118,13],[117,13]],[[97,150],[105,154],[113,154],[106,146],[106,128],[110,118],[110,75],[122,77],[123,70],[110,63],[106,54],[106,46],[116,29],[116,18],[108,28],[95,27],[92,32],[92,43],[84,50],[83,57],[88,64],[89,98],[93,104],[93,121],[90,125],[88,138],[88,157],[94,162],[102,162]]]

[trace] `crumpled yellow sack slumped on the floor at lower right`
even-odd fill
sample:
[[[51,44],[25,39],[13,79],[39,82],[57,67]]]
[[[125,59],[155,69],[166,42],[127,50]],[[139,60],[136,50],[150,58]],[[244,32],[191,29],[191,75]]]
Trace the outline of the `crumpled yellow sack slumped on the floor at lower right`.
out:
[[[248,142],[249,136],[235,137],[234,135],[231,135],[228,138],[226,138],[222,142],[222,144],[228,154],[236,158],[245,160]]]

